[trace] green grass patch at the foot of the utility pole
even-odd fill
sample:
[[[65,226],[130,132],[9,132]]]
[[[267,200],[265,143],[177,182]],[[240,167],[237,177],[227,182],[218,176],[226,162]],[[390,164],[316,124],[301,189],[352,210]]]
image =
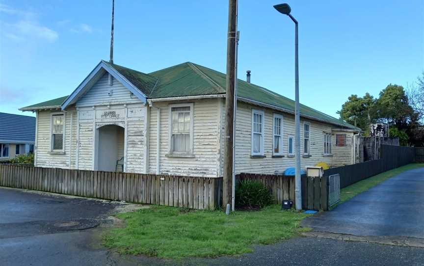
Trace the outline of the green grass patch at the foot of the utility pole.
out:
[[[299,223],[307,214],[281,211],[279,205],[228,216],[219,211],[152,205],[116,216],[126,226],[106,233],[106,247],[119,253],[178,259],[237,255],[252,251],[252,244],[290,239],[305,231]]]

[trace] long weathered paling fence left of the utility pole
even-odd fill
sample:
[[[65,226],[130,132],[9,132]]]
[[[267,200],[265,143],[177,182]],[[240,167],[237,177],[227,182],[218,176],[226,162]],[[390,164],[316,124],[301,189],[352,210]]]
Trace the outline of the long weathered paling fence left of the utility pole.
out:
[[[0,186],[189,209],[219,208],[222,178],[0,164]]]

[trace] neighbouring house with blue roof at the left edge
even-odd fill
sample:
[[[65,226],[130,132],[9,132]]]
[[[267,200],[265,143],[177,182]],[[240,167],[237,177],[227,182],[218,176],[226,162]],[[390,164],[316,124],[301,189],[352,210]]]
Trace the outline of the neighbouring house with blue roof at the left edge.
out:
[[[0,112],[0,161],[34,151],[35,117]]]

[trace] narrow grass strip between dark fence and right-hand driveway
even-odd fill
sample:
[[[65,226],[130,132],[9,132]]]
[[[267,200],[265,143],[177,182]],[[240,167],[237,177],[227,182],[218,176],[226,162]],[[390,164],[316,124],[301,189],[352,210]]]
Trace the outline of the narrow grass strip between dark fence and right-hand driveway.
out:
[[[424,163],[407,164],[407,165],[389,170],[387,172],[383,172],[381,174],[375,175],[375,176],[370,177],[368,179],[362,180],[362,181],[357,182],[355,184],[352,184],[350,186],[346,186],[346,187],[342,188],[342,190],[340,192],[340,203],[343,203],[346,200],[353,198],[354,196],[358,195],[359,193],[364,192],[364,191],[370,189],[371,187],[378,185],[379,183],[383,182],[384,180],[396,176],[397,174],[400,174],[400,173],[405,172],[407,170],[411,170],[411,169],[415,169],[415,168],[421,168],[421,167],[424,167]],[[336,205],[334,207],[336,207]]]

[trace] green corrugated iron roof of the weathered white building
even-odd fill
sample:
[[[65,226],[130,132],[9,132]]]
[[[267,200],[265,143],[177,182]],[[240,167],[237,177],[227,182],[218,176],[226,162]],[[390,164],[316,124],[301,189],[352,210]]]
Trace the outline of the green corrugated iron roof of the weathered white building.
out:
[[[148,99],[225,94],[226,75],[224,73],[191,62],[185,62],[145,74],[120,65],[111,64],[104,60],[102,61],[130,81]],[[238,97],[294,112],[293,100],[244,80],[238,80]],[[47,105],[60,106],[66,98],[67,96],[21,109],[44,107]],[[358,130],[358,128],[341,119],[326,115],[305,105],[300,105],[300,114],[305,117]]]

